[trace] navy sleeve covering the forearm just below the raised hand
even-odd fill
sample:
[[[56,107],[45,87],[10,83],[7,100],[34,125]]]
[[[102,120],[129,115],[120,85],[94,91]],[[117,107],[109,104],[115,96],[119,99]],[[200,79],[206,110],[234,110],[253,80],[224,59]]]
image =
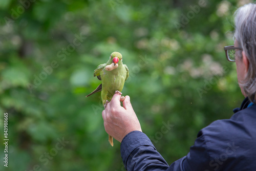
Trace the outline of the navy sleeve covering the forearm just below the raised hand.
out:
[[[169,167],[150,139],[139,131],[124,137],[121,155],[127,170],[166,170]]]

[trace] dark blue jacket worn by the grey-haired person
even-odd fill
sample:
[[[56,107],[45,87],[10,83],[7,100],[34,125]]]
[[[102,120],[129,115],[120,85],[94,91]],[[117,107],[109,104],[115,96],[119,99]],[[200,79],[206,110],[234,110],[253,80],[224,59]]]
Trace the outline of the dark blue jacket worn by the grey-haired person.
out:
[[[253,103],[251,103],[253,104]],[[127,170],[256,170],[256,105],[245,98],[230,119],[217,120],[197,135],[189,153],[168,165],[142,132],[127,134],[121,156]]]

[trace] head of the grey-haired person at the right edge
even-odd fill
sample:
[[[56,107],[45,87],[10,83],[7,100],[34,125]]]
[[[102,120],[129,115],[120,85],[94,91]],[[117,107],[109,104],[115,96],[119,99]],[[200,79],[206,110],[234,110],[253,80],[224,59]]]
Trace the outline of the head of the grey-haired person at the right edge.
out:
[[[238,82],[243,95],[256,102],[256,4],[247,4],[234,13],[234,47]]]

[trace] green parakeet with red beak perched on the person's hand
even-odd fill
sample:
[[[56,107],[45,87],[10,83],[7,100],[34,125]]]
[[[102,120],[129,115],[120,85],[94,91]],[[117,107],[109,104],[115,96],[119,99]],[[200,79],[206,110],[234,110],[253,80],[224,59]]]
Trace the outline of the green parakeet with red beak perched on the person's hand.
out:
[[[129,77],[129,69],[123,64],[121,53],[113,52],[108,62],[99,65],[94,70],[93,76],[97,76],[102,83],[86,97],[101,91],[101,100],[105,108],[115,91],[122,91],[124,81]],[[113,146],[113,137],[110,135],[109,142]]]

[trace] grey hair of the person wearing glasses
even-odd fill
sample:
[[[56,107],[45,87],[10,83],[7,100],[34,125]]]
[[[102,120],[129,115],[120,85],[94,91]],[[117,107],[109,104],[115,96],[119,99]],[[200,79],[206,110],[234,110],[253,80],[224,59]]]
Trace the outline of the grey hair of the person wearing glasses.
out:
[[[234,13],[234,38],[249,60],[246,78],[240,86],[248,95],[250,101],[256,102],[256,4],[246,4]]]

